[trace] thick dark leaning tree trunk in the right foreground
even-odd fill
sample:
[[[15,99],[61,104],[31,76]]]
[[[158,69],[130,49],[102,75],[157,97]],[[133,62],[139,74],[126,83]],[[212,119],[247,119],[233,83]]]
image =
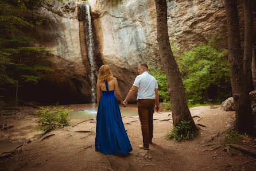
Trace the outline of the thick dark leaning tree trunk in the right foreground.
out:
[[[245,76],[243,76],[243,57],[239,33],[236,0],[225,0],[228,30],[228,60],[232,95],[235,102],[236,129],[239,133],[252,133],[253,115]]]

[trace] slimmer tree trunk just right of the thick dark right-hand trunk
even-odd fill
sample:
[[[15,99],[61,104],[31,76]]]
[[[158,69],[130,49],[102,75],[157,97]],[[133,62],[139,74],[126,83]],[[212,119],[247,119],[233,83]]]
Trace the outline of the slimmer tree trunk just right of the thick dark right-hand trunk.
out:
[[[253,77],[251,75],[251,59],[253,56],[253,13],[251,0],[243,0],[245,18],[245,48],[243,52],[243,74],[246,80],[247,91],[253,91]]]

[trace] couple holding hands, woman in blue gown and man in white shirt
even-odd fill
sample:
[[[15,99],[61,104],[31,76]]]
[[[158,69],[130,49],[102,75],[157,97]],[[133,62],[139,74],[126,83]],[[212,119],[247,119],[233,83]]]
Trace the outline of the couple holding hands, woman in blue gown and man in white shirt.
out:
[[[143,137],[143,145],[139,148],[149,150],[149,143],[152,143],[153,138],[153,113],[155,107],[156,111],[159,111],[160,105],[157,80],[148,73],[148,65],[145,63],[138,65],[138,76],[124,101],[117,79],[113,77],[108,65],[102,65],[99,68],[96,88],[98,112],[95,150],[113,155],[127,154],[133,150],[123,126],[117,99],[126,107],[131,96],[137,91],[138,114]],[[102,91],[102,96],[100,96],[100,91]]]

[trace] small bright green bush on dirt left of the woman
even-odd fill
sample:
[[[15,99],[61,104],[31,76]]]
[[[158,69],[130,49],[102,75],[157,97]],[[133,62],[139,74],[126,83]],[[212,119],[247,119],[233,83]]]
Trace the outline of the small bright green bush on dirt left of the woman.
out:
[[[68,114],[72,110],[63,109],[62,107],[40,107],[37,110],[37,114],[40,116],[38,123],[40,124],[40,130],[44,133],[48,133],[58,127],[69,126]]]

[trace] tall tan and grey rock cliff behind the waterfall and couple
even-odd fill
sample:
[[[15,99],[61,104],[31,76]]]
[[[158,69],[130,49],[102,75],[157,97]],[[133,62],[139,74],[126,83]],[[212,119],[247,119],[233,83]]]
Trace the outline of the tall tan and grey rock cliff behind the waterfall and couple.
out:
[[[41,26],[30,34],[38,44],[52,50],[55,72],[48,73],[38,86],[49,90],[53,101],[88,103],[91,100],[91,65],[88,44],[84,40],[87,25],[79,20],[79,6],[88,3],[96,42],[95,71],[110,65],[117,77],[123,98],[137,75],[137,66],[145,62],[158,66],[159,55],[154,0],[113,1],[69,0],[45,2],[38,12],[45,16]],[[207,42],[212,34],[224,36],[220,44],[227,47],[226,17],[222,1],[167,1],[169,39],[178,47],[177,54],[189,45]],[[92,73],[97,75],[97,72]],[[45,95],[45,91],[42,91]],[[60,97],[56,99],[55,97]],[[135,95],[132,101],[135,102]]]

